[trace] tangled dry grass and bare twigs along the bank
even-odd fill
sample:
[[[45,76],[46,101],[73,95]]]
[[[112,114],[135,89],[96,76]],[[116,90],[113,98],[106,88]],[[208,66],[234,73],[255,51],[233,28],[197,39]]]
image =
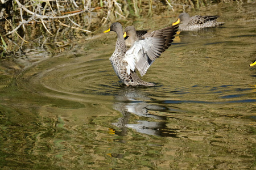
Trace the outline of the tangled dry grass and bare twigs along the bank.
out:
[[[22,51],[24,44],[35,40],[38,40],[36,45],[42,47],[52,41],[55,44],[63,41],[59,45],[63,46],[65,39],[77,32],[86,36],[109,22],[126,20],[130,16],[151,16],[152,8],[159,5],[175,11],[178,8],[199,8],[212,2],[224,0],[2,0],[0,53],[2,57],[14,55]]]

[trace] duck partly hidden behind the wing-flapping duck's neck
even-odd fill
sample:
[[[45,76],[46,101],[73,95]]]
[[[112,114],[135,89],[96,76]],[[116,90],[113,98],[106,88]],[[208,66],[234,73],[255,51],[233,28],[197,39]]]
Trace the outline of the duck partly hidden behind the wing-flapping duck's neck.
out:
[[[125,28],[125,45],[130,47],[133,45],[133,43],[137,40],[140,40],[143,35],[147,33],[147,30],[139,30],[136,31],[135,27],[133,25],[128,26]]]

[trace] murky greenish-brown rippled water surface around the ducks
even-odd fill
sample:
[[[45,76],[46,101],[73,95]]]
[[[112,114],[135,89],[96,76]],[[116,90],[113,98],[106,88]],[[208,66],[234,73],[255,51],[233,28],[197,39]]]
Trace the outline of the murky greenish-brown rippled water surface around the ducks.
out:
[[[255,7],[201,11],[226,24],[181,32],[143,76],[156,87],[119,82],[114,33],[11,79],[2,71],[0,167],[255,168]],[[169,24],[145,28],[156,20]]]

